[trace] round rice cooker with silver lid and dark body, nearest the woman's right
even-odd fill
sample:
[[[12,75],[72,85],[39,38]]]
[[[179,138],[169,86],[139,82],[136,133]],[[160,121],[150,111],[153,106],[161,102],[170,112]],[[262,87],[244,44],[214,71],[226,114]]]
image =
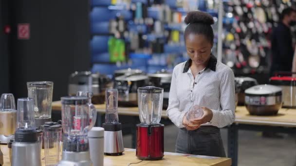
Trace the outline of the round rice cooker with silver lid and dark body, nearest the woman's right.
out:
[[[261,84],[245,90],[245,105],[251,115],[276,115],[282,106],[282,89]]]

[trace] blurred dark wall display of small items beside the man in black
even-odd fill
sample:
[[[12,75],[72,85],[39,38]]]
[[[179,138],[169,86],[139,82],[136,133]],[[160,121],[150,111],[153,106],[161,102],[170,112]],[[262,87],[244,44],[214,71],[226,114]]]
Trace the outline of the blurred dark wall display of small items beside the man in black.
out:
[[[223,3],[222,62],[238,73],[268,70],[271,33],[279,14],[294,0],[227,0]],[[295,32],[294,32],[295,33]]]

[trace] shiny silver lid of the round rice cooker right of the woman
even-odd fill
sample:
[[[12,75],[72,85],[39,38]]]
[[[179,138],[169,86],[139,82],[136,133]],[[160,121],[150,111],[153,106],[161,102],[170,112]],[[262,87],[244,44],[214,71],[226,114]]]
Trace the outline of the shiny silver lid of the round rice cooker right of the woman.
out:
[[[256,85],[253,87],[250,87],[244,91],[246,95],[270,95],[270,94],[276,94],[277,92],[281,92],[282,89],[275,85],[269,85],[269,84],[261,84]]]

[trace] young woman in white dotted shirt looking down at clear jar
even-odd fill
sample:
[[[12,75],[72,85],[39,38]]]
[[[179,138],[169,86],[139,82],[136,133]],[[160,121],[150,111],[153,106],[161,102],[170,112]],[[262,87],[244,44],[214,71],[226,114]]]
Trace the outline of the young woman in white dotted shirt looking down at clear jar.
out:
[[[190,59],[174,67],[167,116],[178,127],[176,152],[225,157],[220,129],[235,119],[235,85],[231,68],[211,53],[213,17],[200,11],[185,17],[185,45]],[[199,119],[186,120],[193,105]]]

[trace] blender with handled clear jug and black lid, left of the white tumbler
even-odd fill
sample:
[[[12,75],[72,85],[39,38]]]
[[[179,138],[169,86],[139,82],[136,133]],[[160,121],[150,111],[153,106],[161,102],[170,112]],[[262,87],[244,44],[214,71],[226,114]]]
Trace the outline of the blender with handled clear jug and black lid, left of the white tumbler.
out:
[[[96,110],[87,97],[62,97],[63,155],[57,166],[92,166],[88,132]]]

